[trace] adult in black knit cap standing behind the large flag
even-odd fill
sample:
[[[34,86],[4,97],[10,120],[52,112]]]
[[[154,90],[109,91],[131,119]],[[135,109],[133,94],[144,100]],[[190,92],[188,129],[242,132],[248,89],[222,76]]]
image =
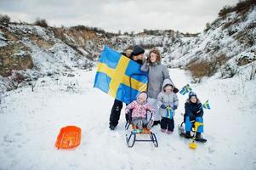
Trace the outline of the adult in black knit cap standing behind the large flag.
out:
[[[141,48],[139,45],[134,47],[134,50],[131,52],[130,50],[126,50],[123,55],[127,56],[130,59],[133,59],[135,62],[142,65],[143,54],[145,53],[144,48]],[[120,113],[122,111],[122,101],[115,99],[114,105],[111,109],[111,116],[110,116],[110,129],[114,130],[117,127]]]

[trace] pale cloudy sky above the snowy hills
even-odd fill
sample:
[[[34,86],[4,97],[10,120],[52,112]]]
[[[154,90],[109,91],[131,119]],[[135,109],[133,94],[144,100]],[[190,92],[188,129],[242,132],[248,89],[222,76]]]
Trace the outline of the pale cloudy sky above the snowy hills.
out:
[[[50,26],[93,26],[118,32],[166,30],[196,33],[238,0],[0,0],[0,14],[12,21]]]

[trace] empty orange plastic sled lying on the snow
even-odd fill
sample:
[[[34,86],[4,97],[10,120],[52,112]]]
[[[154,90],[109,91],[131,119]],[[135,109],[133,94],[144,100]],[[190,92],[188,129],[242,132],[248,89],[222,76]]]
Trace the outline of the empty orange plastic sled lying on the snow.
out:
[[[80,144],[81,128],[76,126],[67,126],[60,129],[55,146],[59,149],[72,149]]]

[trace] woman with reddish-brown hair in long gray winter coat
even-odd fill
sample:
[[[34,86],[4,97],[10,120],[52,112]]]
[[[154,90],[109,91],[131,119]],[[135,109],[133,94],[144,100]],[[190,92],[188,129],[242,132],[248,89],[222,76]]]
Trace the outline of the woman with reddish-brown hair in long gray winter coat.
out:
[[[162,82],[164,79],[170,79],[168,68],[161,64],[161,56],[156,48],[151,49],[149,57],[145,59],[141,66],[141,71],[149,73],[149,82],[147,92],[149,94],[148,102],[155,110],[154,125],[160,123],[161,116],[158,113],[157,95],[162,91]],[[170,79],[173,83],[173,81]]]

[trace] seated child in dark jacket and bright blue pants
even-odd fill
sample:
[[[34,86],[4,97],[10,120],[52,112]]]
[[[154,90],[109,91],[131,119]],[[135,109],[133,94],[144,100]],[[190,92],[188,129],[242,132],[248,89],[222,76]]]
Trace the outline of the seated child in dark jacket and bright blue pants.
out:
[[[191,121],[203,122],[202,120],[203,110],[202,103],[197,98],[196,93],[190,92],[189,99],[185,102],[185,138],[190,139],[191,137]],[[206,142],[206,139],[202,139],[203,126],[198,127],[196,132],[196,140]]]

